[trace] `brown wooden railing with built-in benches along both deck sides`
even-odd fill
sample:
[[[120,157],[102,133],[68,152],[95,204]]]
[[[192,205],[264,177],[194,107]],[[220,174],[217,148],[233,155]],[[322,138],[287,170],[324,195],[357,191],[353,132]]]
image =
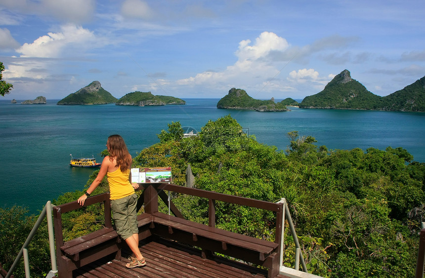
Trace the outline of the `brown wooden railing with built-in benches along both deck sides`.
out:
[[[172,184],[152,183],[139,184],[139,186],[143,192],[138,199],[137,206],[140,209],[144,205],[144,213],[137,217],[139,240],[150,237],[153,237],[153,240],[155,237],[167,238],[201,248],[202,258],[212,258],[217,253],[223,254],[266,268],[269,278],[274,278],[279,274],[283,203],[230,196]],[[182,213],[167,195],[171,192],[208,199],[208,225],[184,219]],[[173,215],[158,211],[159,199],[164,201],[169,207],[170,214]],[[253,238],[216,228],[216,201],[274,212],[276,214],[275,240]],[[84,206],[99,202],[104,202],[105,227],[67,242],[63,240],[62,214],[79,209],[81,206],[77,201],[73,201],[54,207],[56,257],[60,277],[72,277],[73,270],[112,253],[115,253],[116,259],[121,259],[120,248],[125,245],[112,228],[109,193],[87,198]]]

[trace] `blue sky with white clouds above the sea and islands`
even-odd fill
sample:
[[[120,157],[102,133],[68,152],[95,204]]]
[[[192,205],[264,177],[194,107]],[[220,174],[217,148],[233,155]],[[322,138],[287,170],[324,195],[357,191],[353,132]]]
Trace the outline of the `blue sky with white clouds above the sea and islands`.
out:
[[[425,76],[424,0],[0,0],[3,99],[133,91],[302,99],[344,69],[385,96]]]

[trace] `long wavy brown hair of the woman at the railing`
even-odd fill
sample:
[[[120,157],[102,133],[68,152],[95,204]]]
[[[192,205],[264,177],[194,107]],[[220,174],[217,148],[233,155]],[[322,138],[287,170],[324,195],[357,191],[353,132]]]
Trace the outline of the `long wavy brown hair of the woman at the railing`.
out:
[[[115,158],[117,160],[117,166],[120,167],[121,171],[129,169],[132,161],[123,137],[118,134],[111,135],[108,137],[107,144],[110,154],[109,160],[112,161]]]

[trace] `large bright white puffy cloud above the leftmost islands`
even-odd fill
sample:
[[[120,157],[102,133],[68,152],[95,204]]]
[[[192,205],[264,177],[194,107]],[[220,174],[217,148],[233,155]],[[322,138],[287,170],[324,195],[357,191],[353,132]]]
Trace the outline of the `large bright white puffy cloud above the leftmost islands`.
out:
[[[69,24],[62,26],[61,32],[50,32],[32,43],[24,43],[16,51],[22,54],[21,57],[56,58],[61,56],[65,49],[84,49],[86,44],[94,41],[93,32],[81,26],[77,27]]]

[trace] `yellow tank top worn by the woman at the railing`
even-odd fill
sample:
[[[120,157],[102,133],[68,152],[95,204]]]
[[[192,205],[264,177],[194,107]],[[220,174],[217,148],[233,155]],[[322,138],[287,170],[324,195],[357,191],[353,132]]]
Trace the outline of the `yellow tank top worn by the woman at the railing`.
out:
[[[107,172],[111,200],[121,199],[134,194],[134,188],[128,180],[129,174],[130,169],[122,172],[120,168],[113,172]]]

